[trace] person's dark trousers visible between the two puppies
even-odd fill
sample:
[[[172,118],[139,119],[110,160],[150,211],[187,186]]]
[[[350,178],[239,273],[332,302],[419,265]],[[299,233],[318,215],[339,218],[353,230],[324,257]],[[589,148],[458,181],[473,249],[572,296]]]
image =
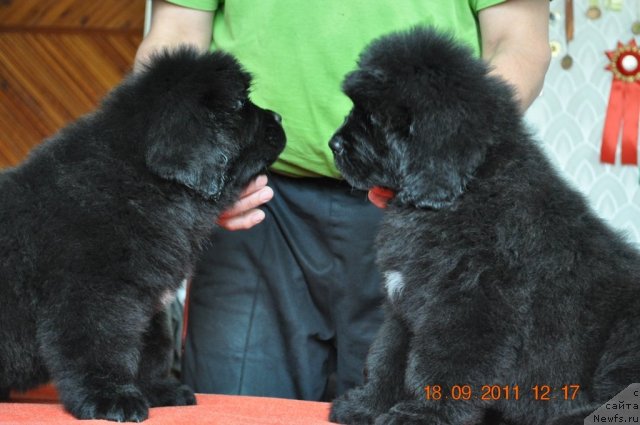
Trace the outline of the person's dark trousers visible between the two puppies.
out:
[[[362,382],[382,322],[382,214],[344,182],[269,181],[265,220],[217,230],[199,263],[182,378],[202,393],[327,400]]]

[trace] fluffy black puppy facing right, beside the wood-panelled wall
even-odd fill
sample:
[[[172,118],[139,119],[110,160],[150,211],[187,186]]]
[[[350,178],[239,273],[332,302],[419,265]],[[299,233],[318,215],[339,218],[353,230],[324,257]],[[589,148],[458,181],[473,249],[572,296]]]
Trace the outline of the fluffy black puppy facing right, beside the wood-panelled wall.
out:
[[[284,147],[223,53],[182,48],[0,174],[0,394],[55,382],[78,418],[194,404],[165,304],[216,217]]]

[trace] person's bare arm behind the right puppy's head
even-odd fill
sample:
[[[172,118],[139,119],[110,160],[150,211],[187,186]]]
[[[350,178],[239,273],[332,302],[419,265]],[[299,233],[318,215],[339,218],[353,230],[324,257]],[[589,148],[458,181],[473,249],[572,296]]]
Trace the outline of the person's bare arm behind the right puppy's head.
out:
[[[549,2],[507,0],[480,11],[482,57],[511,83],[526,110],[542,90],[549,67]]]

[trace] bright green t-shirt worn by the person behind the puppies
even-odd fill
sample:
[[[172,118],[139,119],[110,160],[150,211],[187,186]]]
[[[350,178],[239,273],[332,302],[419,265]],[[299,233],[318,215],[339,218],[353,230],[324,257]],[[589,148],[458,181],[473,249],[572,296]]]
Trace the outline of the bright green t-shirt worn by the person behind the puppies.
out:
[[[251,98],[283,117],[287,147],[273,165],[339,177],[328,147],[351,102],[340,91],[374,38],[415,25],[451,32],[480,51],[477,12],[505,0],[170,0],[216,11],[212,49],[253,75]]]

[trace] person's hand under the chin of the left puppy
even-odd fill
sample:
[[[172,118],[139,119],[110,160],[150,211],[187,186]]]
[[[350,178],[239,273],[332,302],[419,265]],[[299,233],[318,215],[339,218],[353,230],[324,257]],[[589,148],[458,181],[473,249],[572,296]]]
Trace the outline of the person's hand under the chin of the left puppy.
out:
[[[218,218],[218,225],[227,230],[246,230],[264,220],[264,211],[258,207],[273,198],[273,189],[267,183],[265,175],[251,181],[240,194],[240,199]]]

